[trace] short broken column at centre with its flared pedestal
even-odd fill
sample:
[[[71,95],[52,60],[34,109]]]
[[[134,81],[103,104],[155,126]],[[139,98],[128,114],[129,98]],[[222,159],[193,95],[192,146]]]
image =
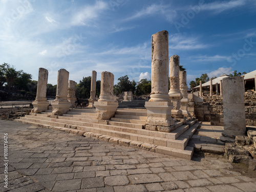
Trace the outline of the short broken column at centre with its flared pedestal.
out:
[[[114,75],[104,71],[101,73],[99,100],[94,102],[96,119],[109,120],[115,115],[118,103],[114,97]]]

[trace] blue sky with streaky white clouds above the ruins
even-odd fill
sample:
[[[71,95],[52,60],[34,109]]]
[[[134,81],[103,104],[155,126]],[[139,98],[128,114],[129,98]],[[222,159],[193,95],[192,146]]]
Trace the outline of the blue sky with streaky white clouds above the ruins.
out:
[[[151,79],[151,38],[169,33],[169,57],[180,56],[187,83],[256,69],[256,1],[0,1],[0,62],[37,80],[38,68],[57,83],[97,71]]]

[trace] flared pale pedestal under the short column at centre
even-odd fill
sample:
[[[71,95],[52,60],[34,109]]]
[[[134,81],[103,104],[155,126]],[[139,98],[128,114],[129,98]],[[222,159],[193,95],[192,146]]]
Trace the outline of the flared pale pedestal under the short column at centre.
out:
[[[96,119],[109,120],[114,117],[118,103],[114,101],[96,101],[94,102],[96,108]]]

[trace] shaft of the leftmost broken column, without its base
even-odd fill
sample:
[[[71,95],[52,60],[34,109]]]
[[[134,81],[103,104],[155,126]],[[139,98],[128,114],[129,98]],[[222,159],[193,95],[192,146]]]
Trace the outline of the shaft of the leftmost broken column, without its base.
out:
[[[39,68],[35,101],[46,101],[48,70]]]

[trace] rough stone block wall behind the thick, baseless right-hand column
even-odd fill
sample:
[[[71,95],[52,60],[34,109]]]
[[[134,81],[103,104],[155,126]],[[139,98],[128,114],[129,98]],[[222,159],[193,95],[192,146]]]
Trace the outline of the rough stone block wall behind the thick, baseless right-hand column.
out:
[[[194,100],[197,97],[194,96]],[[245,92],[246,125],[256,126],[256,92]],[[221,96],[204,96],[203,102],[195,102],[195,115],[200,121],[210,121],[212,125],[223,126],[223,99]]]

